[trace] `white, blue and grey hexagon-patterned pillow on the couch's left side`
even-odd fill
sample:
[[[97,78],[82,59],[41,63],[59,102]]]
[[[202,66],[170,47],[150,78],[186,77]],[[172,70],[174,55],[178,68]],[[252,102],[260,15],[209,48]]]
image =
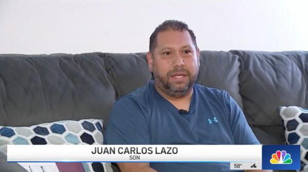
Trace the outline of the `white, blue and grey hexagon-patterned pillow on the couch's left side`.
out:
[[[0,151],[8,144],[103,144],[103,120],[57,121],[30,127],[0,126]],[[111,171],[110,163],[82,163],[86,172]]]

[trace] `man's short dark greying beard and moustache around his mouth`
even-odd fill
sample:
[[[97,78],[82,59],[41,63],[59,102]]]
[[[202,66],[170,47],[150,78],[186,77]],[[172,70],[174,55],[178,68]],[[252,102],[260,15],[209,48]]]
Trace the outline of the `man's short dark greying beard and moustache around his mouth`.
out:
[[[163,77],[158,74],[154,64],[152,66],[152,69],[153,69],[153,77],[155,85],[165,94],[174,98],[185,97],[194,86],[194,83],[196,82],[198,75],[198,72],[194,75],[191,75],[191,73],[187,69],[175,68],[168,71],[166,77]],[[197,71],[199,71],[199,69]],[[188,77],[188,82],[185,83],[185,85],[183,86],[177,86],[177,83],[174,84],[170,83],[169,78],[171,77],[172,73],[175,72],[185,72],[186,77]]]

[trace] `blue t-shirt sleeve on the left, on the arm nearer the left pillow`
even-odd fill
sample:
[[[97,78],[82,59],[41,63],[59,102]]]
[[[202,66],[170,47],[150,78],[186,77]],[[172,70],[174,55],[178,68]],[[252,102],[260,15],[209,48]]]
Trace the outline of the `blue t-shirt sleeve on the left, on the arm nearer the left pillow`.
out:
[[[104,144],[150,144],[146,113],[136,98],[120,99],[111,110]]]

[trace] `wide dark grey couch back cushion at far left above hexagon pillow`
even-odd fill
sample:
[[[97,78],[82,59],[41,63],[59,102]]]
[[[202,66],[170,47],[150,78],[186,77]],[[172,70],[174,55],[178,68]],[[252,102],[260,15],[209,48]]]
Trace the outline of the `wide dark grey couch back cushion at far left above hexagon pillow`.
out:
[[[108,120],[115,102],[103,53],[0,55],[0,125]],[[18,119],[18,120],[16,120]]]

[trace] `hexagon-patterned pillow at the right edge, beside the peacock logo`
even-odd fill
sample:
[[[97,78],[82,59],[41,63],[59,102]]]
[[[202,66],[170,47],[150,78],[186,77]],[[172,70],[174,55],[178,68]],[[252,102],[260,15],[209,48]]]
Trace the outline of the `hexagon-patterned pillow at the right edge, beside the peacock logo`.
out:
[[[299,144],[300,171],[308,171],[308,109],[297,106],[280,107],[287,144]]]

